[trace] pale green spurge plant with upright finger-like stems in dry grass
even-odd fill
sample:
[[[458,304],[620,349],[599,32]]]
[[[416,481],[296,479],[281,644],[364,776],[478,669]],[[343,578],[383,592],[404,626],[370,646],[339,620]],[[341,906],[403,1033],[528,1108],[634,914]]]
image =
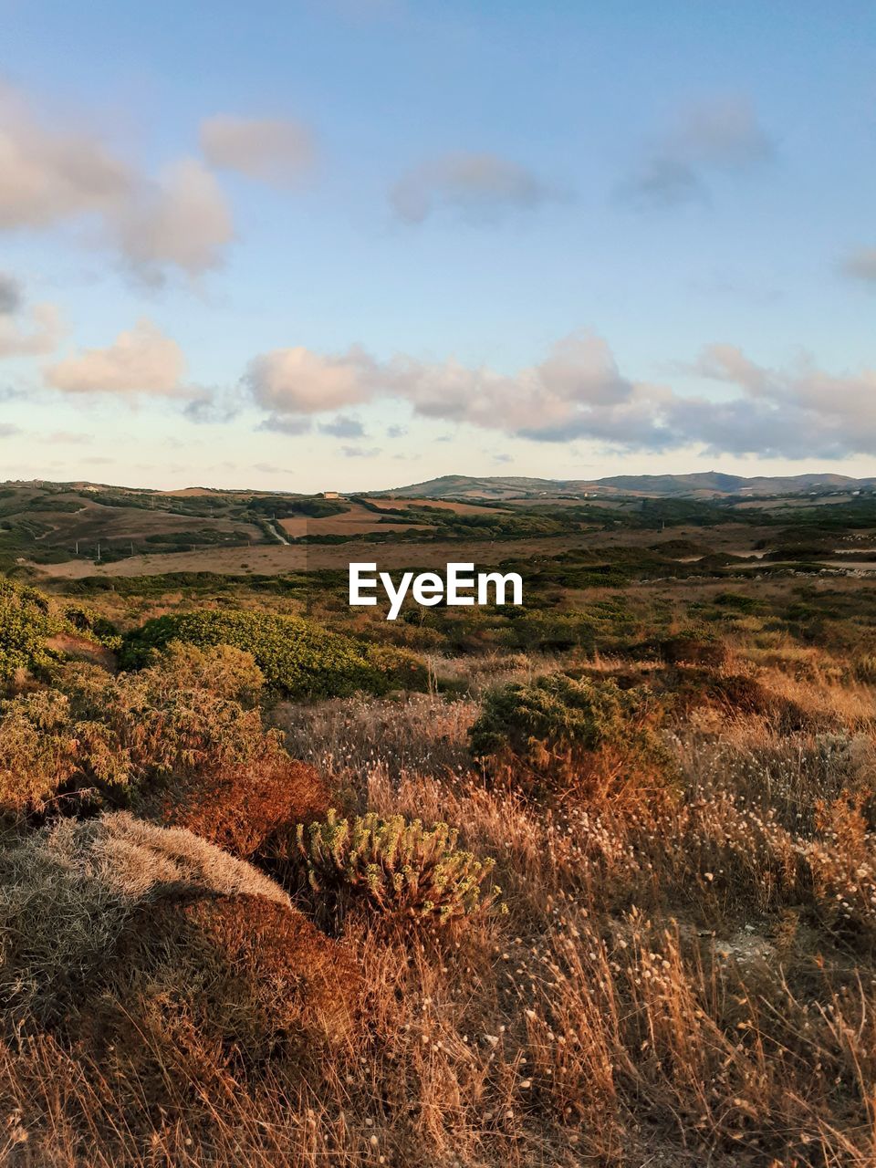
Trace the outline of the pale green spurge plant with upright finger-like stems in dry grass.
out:
[[[420,820],[376,813],[299,823],[297,851],[318,895],[361,897],[388,915],[449,922],[486,911],[501,889],[485,887],[492,860],[457,849],[458,832],[446,823],[425,829]]]

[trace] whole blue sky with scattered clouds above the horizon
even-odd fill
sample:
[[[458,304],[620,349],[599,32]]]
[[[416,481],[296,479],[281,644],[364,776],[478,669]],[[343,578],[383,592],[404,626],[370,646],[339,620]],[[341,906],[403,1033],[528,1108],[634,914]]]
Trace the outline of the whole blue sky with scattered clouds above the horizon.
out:
[[[876,474],[876,7],[0,0],[0,478]]]

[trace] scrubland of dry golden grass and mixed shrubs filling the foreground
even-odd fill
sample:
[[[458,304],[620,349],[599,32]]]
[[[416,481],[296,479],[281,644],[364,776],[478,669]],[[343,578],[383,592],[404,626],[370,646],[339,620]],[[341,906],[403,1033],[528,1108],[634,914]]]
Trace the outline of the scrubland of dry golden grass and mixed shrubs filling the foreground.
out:
[[[872,585],[339,597],[0,590],[2,1160],[872,1164]]]

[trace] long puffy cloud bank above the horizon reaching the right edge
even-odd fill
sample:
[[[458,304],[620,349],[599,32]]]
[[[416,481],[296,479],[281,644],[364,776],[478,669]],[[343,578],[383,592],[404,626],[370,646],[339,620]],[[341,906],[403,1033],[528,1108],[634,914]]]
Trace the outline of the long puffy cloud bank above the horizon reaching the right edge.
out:
[[[361,346],[328,356],[299,347],[256,357],[243,384],[267,412],[265,429],[287,433],[304,432],[319,415],[391,398],[424,418],[537,442],[590,439],[617,451],[698,445],[714,454],[793,459],[876,453],[876,370],[835,375],[808,359],[770,369],[737,347],[712,345],[677,371],[716,383],[717,396],[633,381],[609,345],[586,332],[515,374],[404,354],[380,361]]]

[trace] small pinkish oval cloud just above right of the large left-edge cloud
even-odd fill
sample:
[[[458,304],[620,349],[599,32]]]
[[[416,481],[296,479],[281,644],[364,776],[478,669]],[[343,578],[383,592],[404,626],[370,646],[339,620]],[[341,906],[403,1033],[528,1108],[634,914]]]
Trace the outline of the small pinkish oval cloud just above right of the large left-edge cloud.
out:
[[[299,121],[231,114],[201,123],[201,150],[210,166],[277,187],[299,182],[315,153],[310,130]]]

